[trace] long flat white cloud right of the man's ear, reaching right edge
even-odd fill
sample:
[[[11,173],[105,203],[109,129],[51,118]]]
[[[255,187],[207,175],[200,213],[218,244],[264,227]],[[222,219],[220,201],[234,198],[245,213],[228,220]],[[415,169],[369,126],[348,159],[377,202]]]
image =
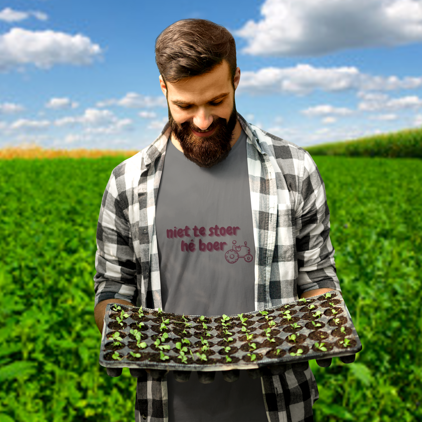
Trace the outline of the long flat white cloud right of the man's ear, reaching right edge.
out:
[[[348,89],[393,90],[414,89],[422,86],[421,77],[372,76],[361,73],[356,67],[316,68],[308,64],[298,64],[291,68],[261,68],[244,71],[238,92],[252,94],[306,95],[316,89],[339,92]]]

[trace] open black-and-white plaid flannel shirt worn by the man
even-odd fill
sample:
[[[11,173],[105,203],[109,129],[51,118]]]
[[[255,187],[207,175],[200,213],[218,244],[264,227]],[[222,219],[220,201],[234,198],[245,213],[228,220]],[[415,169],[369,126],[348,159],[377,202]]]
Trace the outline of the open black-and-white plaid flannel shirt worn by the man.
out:
[[[307,151],[238,115],[247,136],[254,226],[255,309],[297,300],[303,292],[341,292],[330,241],[324,182]],[[170,127],[112,172],[97,226],[95,304],[125,299],[162,307],[155,228],[155,203]],[[268,421],[313,421],[319,398],[311,368],[286,365],[283,375],[262,376]],[[167,381],[138,378],[135,420],[168,421]]]

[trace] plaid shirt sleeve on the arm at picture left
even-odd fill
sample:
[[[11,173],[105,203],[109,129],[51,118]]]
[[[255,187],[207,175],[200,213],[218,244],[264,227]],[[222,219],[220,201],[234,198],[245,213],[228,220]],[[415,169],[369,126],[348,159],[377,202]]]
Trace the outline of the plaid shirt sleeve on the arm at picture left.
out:
[[[113,172],[98,217],[95,305],[106,299],[136,303],[136,260],[127,208],[127,195],[125,191],[119,192]]]

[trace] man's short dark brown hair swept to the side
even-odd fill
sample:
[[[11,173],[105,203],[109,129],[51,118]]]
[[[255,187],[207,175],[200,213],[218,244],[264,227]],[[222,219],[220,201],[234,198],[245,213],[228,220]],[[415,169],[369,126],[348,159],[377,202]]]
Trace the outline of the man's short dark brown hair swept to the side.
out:
[[[178,82],[210,72],[226,60],[233,77],[236,71],[236,43],[222,25],[207,19],[181,19],[155,40],[155,62],[164,81]]]

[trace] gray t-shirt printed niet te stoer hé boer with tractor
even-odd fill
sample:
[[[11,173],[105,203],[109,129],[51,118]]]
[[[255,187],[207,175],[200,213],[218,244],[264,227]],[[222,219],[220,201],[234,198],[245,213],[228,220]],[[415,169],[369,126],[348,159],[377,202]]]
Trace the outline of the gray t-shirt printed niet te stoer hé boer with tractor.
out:
[[[168,140],[155,221],[163,309],[190,315],[254,311],[255,246],[246,133],[228,157],[200,168]],[[266,421],[260,379],[168,375],[169,421]]]

